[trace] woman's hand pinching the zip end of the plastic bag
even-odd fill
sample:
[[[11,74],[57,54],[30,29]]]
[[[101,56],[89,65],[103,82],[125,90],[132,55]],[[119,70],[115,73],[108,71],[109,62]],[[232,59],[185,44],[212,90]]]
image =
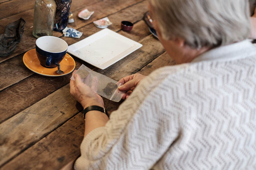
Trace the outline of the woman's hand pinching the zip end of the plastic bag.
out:
[[[132,91],[134,90],[134,88],[139,84],[139,82],[144,79],[145,75],[136,73],[133,75],[128,75],[124,78],[122,78],[121,80],[119,80],[119,83],[122,83],[122,86],[119,86],[118,89],[121,91],[127,91],[122,99],[127,99],[129,97],[129,95],[132,93]]]

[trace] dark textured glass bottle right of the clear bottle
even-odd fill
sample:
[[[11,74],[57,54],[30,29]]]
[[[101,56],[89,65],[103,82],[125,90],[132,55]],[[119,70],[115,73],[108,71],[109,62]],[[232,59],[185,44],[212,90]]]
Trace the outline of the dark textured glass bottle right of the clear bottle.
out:
[[[55,16],[55,31],[62,31],[68,24],[68,15],[72,0],[55,0],[56,16]]]

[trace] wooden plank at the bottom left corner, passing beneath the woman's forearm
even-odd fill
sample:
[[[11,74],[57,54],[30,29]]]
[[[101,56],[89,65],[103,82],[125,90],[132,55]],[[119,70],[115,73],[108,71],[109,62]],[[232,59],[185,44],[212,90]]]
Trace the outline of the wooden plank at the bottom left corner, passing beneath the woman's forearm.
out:
[[[138,71],[138,73],[149,75],[157,68],[174,64],[174,60],[164,52]],[[110,113],[116,110],[121,103],[109,100],[105,100],[104,102],[105,107]],[[14,160],[11,160],[2,168],[17,169],[23,167],[24,169],[60,169],[79,155],[79,146],[83,139],[83,134],[84,121],[81,113],[78,113],[72,119],[44,137],[31,148],[28,148],[25,152],[14,158]],[[37,159],[33,159],[34,157],[37,157]]]

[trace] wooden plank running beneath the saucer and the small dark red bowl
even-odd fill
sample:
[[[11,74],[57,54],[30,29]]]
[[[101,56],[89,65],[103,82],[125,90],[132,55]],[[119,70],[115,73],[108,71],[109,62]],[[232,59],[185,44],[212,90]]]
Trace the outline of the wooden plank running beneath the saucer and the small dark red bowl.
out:
[[[146,5],[147,5],[147,2],[144,1],[144,2],[134,5],[132,7],[126,8],[125,10],[123,10],[121,12],[110,15],[109,18],[113,19],[113,24],[109,28],[114,31],[120,30],[120,23],[123,20],[122,13],[124,13],[124,12],[129,14],[126,19],[128,19],[131,22],[137,22],[138,20],[140,20],[142,18],[144,12],[147,11]],[[77,41],[80,41],[83,38],[88,37],[91,34],[96,33],[99,30],[101,30],[101,29],[95,27],[94,24],[89,24],[89,25],[84,26],[81,29],[79,29],[79,31],[84,32],[84,34],[82,35],[81,38],[79,38],[79,39],[78,38],[69,38],[69,37],[62,37],[62,38],[66,42],[68,42],[68,44],[70,45]],[[143,30],[143,31],[138,31],[138,30]],[[144,38],[147,35],[149,35],[150,32],[147,30],[146,24],[144,24],[143,21],[140,21],[140,22],[134,24],[134,28],[132,31],[130,31],[129,33],[122,32],[122,34],[128,38],[133,39],[134,41],[139,41],[139,40],[141,40],[141,38]],[[14,59],[10,59],[11,62],[9,62],[9,60],[7,60],[5,62],[0,63],[0,70],[1,70],[1,68],[5,69],[5,74],[0,75],[0,80],[3,78],[6,78],[6,77],[11,77],[11,79],[5,79],[3,82],[0,82],[0,91],[3,88],[9,87],[12,84],[17,83],[17,82],[21,81],[22,79],[25,79],[28,76],[33,74],[32,71],[30,71],[28,69],[24,69],[25,66],[23,64],[22,57],[23,57],[23,53],[22,53],[22,55],[14,57]],[[13,74],[12,67],[7,67],[7,66],[11,66],[12,64],[22,66],[22,67],[15,67],[15,72],[17,72],[17,74]]]

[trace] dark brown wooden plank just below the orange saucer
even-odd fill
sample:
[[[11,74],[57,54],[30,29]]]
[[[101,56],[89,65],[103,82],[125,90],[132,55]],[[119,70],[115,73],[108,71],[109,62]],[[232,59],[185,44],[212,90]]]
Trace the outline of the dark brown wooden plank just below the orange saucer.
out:
[[[76,62],[75,69],[81,66]],[[45,96],[68,84],[71,74],[60,77],[46,77],[34,74],[25,81],[0,92],[0,122],[24,110]]]

